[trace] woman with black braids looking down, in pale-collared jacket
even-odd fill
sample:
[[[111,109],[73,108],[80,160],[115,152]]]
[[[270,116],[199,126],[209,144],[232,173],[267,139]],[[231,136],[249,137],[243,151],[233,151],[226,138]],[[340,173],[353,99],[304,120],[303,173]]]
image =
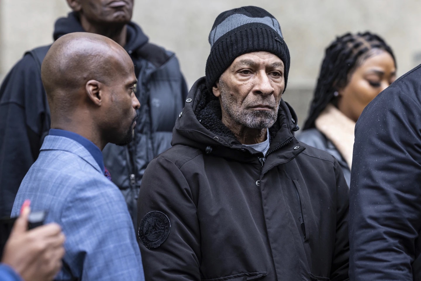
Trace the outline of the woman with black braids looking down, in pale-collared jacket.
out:
[[[335,156],[348,186],[355,123],[365,106],[395,79],[392,49],[376,34],[346,33],[326,49],[298,140]]]

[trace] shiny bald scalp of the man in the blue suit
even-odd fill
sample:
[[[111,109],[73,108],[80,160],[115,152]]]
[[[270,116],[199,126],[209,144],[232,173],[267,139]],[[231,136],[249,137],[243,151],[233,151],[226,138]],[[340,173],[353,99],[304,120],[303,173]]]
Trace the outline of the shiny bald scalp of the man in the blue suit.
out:
[[[132,70],[130,56],[113,40],[98,34],[74,32],[53,43],[43,61],[41,78],[51,109],[66,111],[84,97],[89,80],[107,85],[115,75]]]

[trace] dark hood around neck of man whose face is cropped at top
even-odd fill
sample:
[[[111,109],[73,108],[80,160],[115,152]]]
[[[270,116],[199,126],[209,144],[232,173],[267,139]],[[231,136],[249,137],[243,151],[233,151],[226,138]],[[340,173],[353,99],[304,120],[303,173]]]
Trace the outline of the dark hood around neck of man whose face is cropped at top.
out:
[[[57,19],[54,25],[53,38],[57,40],[61,36],[72,32],[85,32],[80,24],[77,12],[71,12],[67,17]],[[147,43],[148,40],[149,38],[143,33],[139,25],[132,21],[127,24],[127,43],[124,46],[126,51],[136,51]]]

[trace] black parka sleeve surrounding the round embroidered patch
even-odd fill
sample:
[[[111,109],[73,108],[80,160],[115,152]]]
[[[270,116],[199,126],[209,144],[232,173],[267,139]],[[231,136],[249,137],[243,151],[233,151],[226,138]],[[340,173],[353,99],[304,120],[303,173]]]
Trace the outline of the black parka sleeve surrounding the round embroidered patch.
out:
[[[160,211],[168,216],[171,229],[165,241],[156,248],[138,236],[145,280],[200,280],[197,208],[180,169],[162,157],[149,163],[142,180],[138,200],[138,233],[144,234],[145,223],[148,222],[143,218],[151,211]]]

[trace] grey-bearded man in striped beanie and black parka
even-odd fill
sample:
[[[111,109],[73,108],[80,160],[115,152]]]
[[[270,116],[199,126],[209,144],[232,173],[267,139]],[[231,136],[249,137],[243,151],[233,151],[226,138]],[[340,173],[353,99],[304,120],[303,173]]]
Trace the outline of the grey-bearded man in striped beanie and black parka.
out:
[[[294,136],[278,21],[253,6],[226,11],[209,42],[173,147],[141,185],[145,279],[348,280],[349,189],[332,155]]]

